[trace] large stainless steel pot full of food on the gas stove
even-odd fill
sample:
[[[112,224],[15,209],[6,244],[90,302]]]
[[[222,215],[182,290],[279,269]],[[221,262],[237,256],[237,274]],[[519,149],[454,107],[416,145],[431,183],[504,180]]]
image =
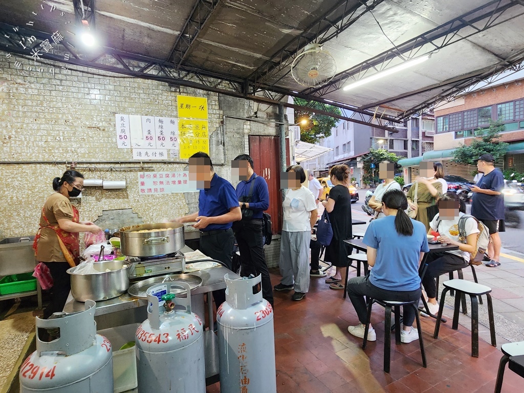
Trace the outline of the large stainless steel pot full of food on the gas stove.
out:
[[[141,230],[158,231],[135,232]],[[183,224],[142,224],[126,226],[120,229],[120,250],[123,255],[130,257],[154,257],[157,255],[176,253],[183,247]]]

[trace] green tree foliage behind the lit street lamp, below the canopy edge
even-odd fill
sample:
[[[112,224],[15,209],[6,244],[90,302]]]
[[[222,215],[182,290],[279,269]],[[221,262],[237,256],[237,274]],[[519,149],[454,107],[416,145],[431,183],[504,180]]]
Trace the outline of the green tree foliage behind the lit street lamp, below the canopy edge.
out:
[[[302,106],[305,106],[308,103],[308,101],[302,99],[295,99],[295,102],[297,105]],[[300,124],[300,140],[307,143],[316,143],[320,139],[319,135],[324,135],[326,138],[331,136],[331,129],[336,127],[336,124],[339,122],[334,117],[315,113],[315,109],[332,112],[335,115],[342,115],[342,111],[339,107],[321,104],[319,102],[315,102],[312,105],[311,111],[296,109],[294,115],[297,123],[303,119],[308,120],[308,123]]]

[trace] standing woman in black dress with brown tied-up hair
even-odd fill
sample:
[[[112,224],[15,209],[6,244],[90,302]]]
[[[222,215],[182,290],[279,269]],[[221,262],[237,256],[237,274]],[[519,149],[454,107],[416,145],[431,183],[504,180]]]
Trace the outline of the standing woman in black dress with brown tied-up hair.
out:
[[[341,284],[346,274],[347,249],[344,240],[351,239],[351,196],[347,188],[350,168],[347,165],[335,165],[330,170],[331,182],[335,185],[330,190],[329,199],[322,205],[329,213],[333,239],[326,247],[324,260],[336,267],[335,275],[326,279],[331,289],[344,289]]]

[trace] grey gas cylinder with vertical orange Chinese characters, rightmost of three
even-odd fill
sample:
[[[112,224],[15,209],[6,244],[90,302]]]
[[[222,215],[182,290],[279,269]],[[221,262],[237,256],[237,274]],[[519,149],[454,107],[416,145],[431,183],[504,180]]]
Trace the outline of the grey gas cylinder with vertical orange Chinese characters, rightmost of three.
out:
[[[226,274],[224,279],[226,301],[216,311],[220,389],[227,393],[276,393],[273,309],[262,298],[262,278],[231,280]]]

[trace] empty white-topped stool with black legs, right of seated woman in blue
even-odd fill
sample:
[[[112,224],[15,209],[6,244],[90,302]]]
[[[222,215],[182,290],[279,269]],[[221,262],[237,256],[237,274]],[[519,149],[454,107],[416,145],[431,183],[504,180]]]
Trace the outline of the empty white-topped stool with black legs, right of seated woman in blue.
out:
[[[493,346],[497,346],[495,338],[495,321],[493,320],[493,303],[489,292],[491,288],[485,285],[477,284],[475,282],[466,280],[449,280],[442,283],[444,290],[442,291],[442,298],[440,299],[439,315],[436,318],[435,333],[433,337],[438,339],[440,320],[442,318],[442,311],[444,310],[444,300],[446,293],[450,290],[455,290],[455,310],[453,313],[453,325],[452,329],[459,329],[459,312],[460,302],[465,294],[468,294],[471,298],[471,356],[478,357],[478,301],[477,297],[486,295],[488,300],[488,318],[489,318],[489,332],[491,333],[491,342]]]

